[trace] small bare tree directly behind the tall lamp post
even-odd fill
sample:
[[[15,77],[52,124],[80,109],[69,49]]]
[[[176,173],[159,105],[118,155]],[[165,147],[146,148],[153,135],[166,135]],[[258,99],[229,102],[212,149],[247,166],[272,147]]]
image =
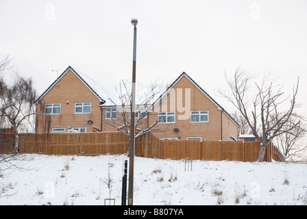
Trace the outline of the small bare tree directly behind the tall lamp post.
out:
[[[130,109],[132,105],[132,96],[130,90],[131,86],[128,85],[128,81],[121,80],[119,88],[116,88],[116,100],[114,98],[109,98],[110,103],[116,107],[116,112],[110,112],[110,119],[104,119],[103,123],[121,131],[121,133],[127,136],[128,142],[130,142]],[[156,101],[158,96],[160,96],[164,90],[163,83],[158,83],[158,81],[151,83],[147,88],[143,86],[139,87],[138,94],[141,95],[138,95],[136,99],[136,101],[138,101],[138,105],[136,105],[135,122],[136,139],[147,133],[153,133],[156,131],[163,132],[162,129],[156,127],[158,124],[158,118],[151,124],[144,124],[144,120],[145,118],[148,118],[149,114],[151,114],[153,110],[153,102]]]

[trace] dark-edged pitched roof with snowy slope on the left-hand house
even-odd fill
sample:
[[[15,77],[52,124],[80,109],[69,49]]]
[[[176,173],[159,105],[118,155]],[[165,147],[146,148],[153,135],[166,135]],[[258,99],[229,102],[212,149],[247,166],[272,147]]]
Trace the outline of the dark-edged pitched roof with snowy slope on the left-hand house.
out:
[[[101,96],[106,96],[104,90],[103,90],[103,86],[98,83],[97,81],[91,79],[90,77],[84,75],[83,73],[77,72],[75,69],[73,69],[71,66],[68,66],[68,68],[66,68],[66,70],[64,70],[64,72],[56,79],[56,81],[53,81],[53,83],[51,83],[51,85],[38,97],[38,99],[36,99],[36,103],[38,103],[38,101],[40,101],[40,99],[42,99],[43,96],[45,96],[45,94],[47,94],[47,92],[49,92],[49,90],[51,90],[51,88],[53,88],[53,86],[56,85],[56,83],[58,83],[58,81],[69,71],[71,70],[85,85],[86,87],[88,87],[88,89],[93,92],[93,94],[95,94],[95,96],[97,96],[97,98],[99,99],[99,101],[101,101],[101,104],[105,103],[106,101],[101,97]]]

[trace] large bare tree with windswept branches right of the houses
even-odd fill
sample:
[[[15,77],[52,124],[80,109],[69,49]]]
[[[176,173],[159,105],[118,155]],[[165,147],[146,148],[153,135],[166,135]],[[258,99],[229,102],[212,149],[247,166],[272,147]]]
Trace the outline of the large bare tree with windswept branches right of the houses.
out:
[[[298,107],[299,78],[293,86],[291,97],[284,97],[282,86],[275,85],[275,81],[270,80],[266,75],[258,83],[250,73],[240,67],[236,68],[234,78],[226,77],[226,81],[231,94],[225,94],[221,90],[219,93],[236,107],[236,110],[245,118],[251,133],[260,141],[258,162],[262,162],[267,144],[271,140],[283,133],[292,133],[300,127],[303,117],[295,112],[295,108]],[[286,101],[288,106],[284,107]],[[299,120],[291,120],[291,118],[299,118]]]

